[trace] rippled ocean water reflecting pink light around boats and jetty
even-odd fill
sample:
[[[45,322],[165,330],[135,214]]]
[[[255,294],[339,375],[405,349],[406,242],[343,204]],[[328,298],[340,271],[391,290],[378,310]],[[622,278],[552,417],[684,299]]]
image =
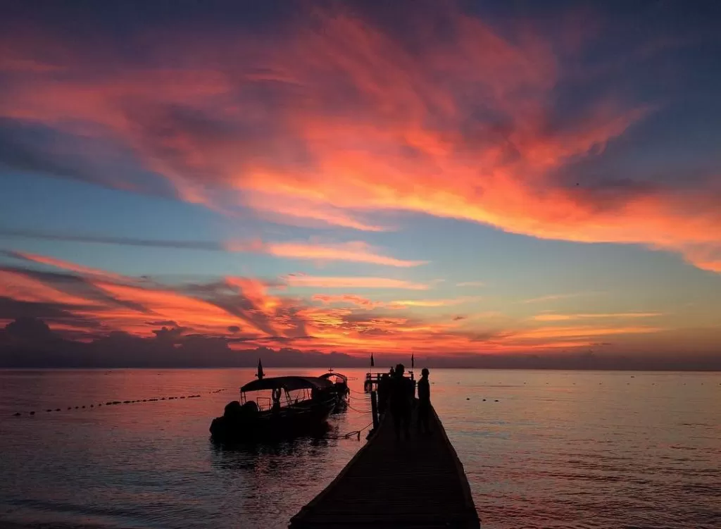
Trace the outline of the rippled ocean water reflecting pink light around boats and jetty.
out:
[[[371,421],[366,370],[344,372],[328,437],[225,450],[208,426],[253,370],[0,371],[0,526],[286,527],[365,442],[337,438]],[[482,527],[721,528],[721,373],[430,380]]]

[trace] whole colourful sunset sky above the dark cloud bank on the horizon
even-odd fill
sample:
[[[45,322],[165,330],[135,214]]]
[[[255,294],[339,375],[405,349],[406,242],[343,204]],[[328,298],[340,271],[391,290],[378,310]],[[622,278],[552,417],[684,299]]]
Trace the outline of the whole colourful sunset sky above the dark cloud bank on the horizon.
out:
[[[6,2],[0,327],[720,357],[720,21],[710,1]]]

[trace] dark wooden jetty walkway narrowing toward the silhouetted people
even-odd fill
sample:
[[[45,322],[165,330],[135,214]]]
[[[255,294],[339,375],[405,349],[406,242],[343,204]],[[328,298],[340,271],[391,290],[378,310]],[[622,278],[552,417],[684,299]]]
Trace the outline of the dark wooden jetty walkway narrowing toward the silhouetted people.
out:
[[[431,433],[397,442],[386,414],[348,465],[291,519],[291,529],[479,528],[463,465],[431,408]]]

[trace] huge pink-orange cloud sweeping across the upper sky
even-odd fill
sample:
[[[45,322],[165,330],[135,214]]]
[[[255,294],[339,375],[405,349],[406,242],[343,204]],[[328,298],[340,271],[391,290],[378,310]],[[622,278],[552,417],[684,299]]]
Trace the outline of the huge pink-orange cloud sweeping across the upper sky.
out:
[[[435,15],[406,26],[412,45],[340,8],[314,9],[312,26],[253,45],[168,28],[143,37],[142,67],[92,75],[92,61],[74,56],[80,48],[18,32],[3,41],[0,115],[129,149],[180,198],[216,211],[249,206],[286,222],[373,231],[385,229],[366,221],[376,212],[411,211],[532,237],[642,244],[721,271],[717,182],[679,191],[556,176],[652,106],[598,97],[554,125],[565,74],[558,43],[528,25],[507,38],[446,6]],[[53,62],[43,60],[50,46]],[[115,52],[94,53],[112,62]],[[174,69],[152,67],[169,56]],[[147,191],[144,180],[95,173],[88,178]],[[383,261],[358,249],[317,251]]]

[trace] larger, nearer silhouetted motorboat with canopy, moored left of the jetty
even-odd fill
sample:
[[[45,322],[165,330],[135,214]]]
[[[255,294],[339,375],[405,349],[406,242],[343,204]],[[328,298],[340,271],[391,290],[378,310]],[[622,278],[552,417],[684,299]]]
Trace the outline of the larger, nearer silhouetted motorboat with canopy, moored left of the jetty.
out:
[[[250,391],[270,391],[270,397],[257,394],[248,400]],[[214,440],[267,440],[316,432],[337,403],[333,382],[320,377],[259,378],[240,392],[240,401],[228,403],[223,416],[213,419]]]

